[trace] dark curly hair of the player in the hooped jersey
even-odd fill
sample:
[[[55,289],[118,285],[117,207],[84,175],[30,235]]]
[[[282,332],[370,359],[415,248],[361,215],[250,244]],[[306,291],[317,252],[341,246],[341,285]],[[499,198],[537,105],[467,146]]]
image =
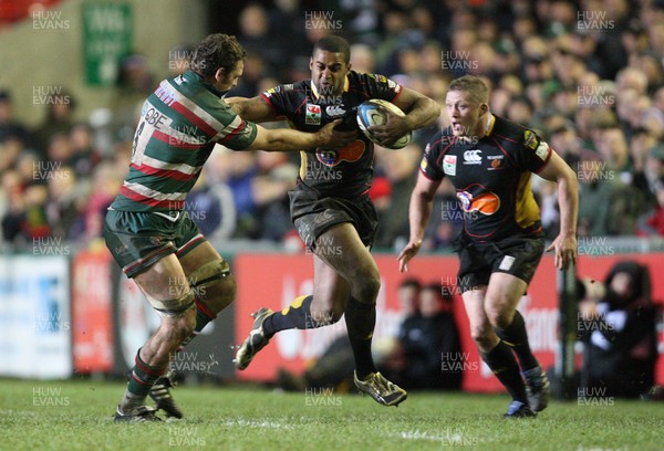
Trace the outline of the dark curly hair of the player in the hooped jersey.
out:
[[[236,36],[210,34],[194,51],[191,70],[205,77],[214,76],[219,67],[231,71],[238,61],[245,60],[247,51]]]

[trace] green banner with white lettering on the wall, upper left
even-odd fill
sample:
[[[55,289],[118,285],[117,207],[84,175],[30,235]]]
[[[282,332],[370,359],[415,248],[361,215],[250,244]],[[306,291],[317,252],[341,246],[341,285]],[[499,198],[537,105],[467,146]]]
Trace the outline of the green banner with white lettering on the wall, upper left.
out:
[[[112,85],[122,59],[132,51],[132,7],[95,1],[82,8],[85,80],[90,85]]]

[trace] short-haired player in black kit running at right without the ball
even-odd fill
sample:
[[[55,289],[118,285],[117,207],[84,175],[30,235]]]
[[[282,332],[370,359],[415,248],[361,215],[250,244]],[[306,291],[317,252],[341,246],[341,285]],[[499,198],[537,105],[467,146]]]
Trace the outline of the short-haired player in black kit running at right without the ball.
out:
[[[577,259],[577,175],[532,130],[491,114],[481,78],[465,75],[449,83],[445,106],[450,126],[425,149],[400,269],[406,271],[419,251],[436,190],[448,177],[464,210],[457,286],[473,339],[512,398],[505,417],[535,417],[547,408],[550,384],[517,310],[544,251],[530,178],[538,174],[558,186],[560,233],[548,250],[566,270]]]

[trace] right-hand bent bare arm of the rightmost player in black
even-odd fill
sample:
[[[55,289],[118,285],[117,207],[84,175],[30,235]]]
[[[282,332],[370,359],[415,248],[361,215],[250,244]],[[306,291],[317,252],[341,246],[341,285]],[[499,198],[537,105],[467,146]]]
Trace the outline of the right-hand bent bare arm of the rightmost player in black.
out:
[[[551,150],[549,162],[538,175],[558,183],[560,233],[547,248],[547,251],[554,250],[556,268],[567,270],[570,263],[577,263],[577,217],[579,213],[577,174],[556,151]]]

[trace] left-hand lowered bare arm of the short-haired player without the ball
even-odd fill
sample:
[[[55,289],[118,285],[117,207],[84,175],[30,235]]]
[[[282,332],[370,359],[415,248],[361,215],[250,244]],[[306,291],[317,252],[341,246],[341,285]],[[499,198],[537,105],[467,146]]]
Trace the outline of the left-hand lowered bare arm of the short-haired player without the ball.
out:
[[[398,270],[408,271],[408,261],[417,254],[422,248],[422,240],[426,226],[432,217],[434,197],[440,181],[429,180],[422,172],[417,176],[417,183],[411,196],[411,206],[408,209],[408,222],[411,224],[411,239],[398,254]]]

